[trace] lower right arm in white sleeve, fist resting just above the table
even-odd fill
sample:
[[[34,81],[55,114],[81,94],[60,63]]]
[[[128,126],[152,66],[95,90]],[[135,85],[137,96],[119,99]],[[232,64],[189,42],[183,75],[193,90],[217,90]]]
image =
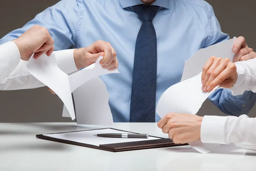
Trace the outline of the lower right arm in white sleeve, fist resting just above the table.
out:
[[[176,144],[194,142],[229,145],[256,151],[256,118],[246,115],[197,116],[186,113],[169,113],[157,126]]]

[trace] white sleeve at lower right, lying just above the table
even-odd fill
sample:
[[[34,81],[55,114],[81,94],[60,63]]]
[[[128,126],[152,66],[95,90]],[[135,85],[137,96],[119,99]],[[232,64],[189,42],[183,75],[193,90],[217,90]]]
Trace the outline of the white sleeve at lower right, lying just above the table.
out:
[[[246,115],[204,116],[201,124],[203,143],[235,144],[256,151],[256,118]]]

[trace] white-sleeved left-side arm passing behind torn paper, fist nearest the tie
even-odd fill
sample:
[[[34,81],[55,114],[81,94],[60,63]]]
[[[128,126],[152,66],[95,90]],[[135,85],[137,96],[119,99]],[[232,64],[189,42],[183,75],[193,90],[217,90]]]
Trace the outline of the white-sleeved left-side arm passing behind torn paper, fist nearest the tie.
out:
[[[100,55],[104,56],[103,59],[106,61],[105,63],[102,59],[104,63],[102,68],[115,70],[118,67],[116,52],[105,41],[96,41],[85,48],[61,50],[53,53],[55,53],[58,67],[67,74],[93,64]],[[28,72],[26,64],[27,61],[20,61],[17,68],[5,80],[0,81],[0,90],[31,89],[45,86]]]

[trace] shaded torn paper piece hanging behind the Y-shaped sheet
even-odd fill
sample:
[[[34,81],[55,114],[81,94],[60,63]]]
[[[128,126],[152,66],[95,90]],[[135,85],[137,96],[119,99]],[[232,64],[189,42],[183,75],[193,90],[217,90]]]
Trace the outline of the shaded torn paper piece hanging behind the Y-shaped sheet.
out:
[[[101,78],[95,77],[73,92],[76,122],[83,125],[112,125],[108,90]]]

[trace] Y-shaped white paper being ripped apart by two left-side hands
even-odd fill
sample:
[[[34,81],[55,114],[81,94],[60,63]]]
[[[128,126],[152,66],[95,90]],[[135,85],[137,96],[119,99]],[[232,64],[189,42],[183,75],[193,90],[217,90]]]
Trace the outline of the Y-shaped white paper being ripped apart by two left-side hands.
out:
[[[99,64],[102,58],[103,57],[100,56],[96,63],[69,76],[58,68],[54,52],[50,57],[44,54],[36,60],[32,55],[27,64],[27,68],[35,78],[52,89],[52,91],[60,97],[64,103],[65,112],[63,115],[71,117],[73,120],[76,119],[76,117],[71,93],[82,84],[99,75],[119,73],[118,70],[108,71],[103,69]],[[102,104],[99,104],[98,107],[101,105]]]

